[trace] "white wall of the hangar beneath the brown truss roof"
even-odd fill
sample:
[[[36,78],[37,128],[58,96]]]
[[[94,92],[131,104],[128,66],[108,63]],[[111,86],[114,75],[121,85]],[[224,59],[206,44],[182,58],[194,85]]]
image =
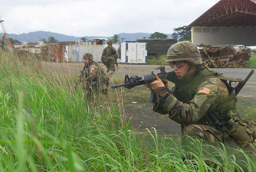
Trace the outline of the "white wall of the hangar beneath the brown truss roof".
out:
[[[191,40],[196,45],[256,45],[256,27],[191,27]]]

